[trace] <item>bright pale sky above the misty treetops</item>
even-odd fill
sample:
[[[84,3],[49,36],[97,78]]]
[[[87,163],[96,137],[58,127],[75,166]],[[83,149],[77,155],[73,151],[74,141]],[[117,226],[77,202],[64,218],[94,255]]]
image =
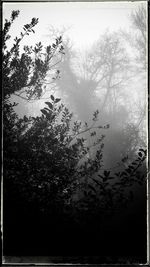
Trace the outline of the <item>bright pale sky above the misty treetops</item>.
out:
[[[48,26],[71,26],[67,34],[75,48],[87,48],[106,30],[129,29],[129,15],[140,3],[146,2],[23,2],[3,3],[3,19],[9,19],[12,10],[20,10],[14,22],[13,37],[19,35],[24,24],[39,18],[35,34],[24,38],[24,45],[39,41],[48,45]]]

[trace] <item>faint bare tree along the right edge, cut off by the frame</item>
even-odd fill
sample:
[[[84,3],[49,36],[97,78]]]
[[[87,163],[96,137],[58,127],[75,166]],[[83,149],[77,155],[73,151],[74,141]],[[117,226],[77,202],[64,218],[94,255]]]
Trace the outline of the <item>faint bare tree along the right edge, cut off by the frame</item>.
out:
[[[140,129],[140,135],[146,143],[146,99],[147,99],[147,10],[146,5],[139,4],[138,8],[130,15],[131,32],[123,31],[123,37],[129,46],[131,64],[133,66],[133,86],[136,88],[135,103],[131,103],[132,118],[135,121],[137,129]],[[138,86],[139,84],[139,86]],[[132,89],[133,90],[133,89]],[[136,96],[138,95],[138,96]],[[134,107],[134,108],[133,108]]]

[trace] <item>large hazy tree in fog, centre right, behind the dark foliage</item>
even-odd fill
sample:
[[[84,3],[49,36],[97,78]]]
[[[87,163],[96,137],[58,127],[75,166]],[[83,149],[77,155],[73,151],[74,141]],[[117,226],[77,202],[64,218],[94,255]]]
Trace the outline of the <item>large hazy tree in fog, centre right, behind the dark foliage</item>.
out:
[[[133,81],[133,67],[120,34],[105,33],[91,51],[82,55],[73,51],[68,40],[64,47],[66,54],[60,63],[61,75],[55,90],[65,98],[77,118],[88,121],[96,107],[100,110],[99,123],[110,124],[104,147],[105,166],[116,166],[127,154],[134,158],[139,143],[143,145],[141,116],[136,125],[128,90]]]

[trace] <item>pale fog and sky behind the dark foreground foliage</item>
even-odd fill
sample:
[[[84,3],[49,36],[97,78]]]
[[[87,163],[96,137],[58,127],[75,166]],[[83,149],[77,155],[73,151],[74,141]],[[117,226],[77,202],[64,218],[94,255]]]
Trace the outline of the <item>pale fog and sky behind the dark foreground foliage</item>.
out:
[[[3,4],[3,19],[12,10],[20,10],[20,17],[10,31],[13,38],[32,17],[39,18],[35,34],[24,38],[20,51],[24,45],[34,46],[39,41],[44,46],[52,45],[59,36],[64,47],[64,53],[56,54],[51,60],[40,98],[26,99],[26,88],[21,89],[18,97],[11,95],[11,102],[18,103],[16,113],[20,118],[40,116],[45,102],[51,102],[50,95],[60,98],[73,113],[72,127],[75,121],[81,122],[80,137],[90,147],[88,159],[95,157],[99,149],[96,140],[102,138],[100,175],[105,170],[112,175],[123,171],[136,159],[139,148],[147,148],[147,25],[146,18],[139,17],[135,23],[134,17],[140,8],[146,10],[144,1]],[[142,28],[140,19],[144,22]],[[12,43],[8,40],[8,48]],[[93,114],[96,114],[94,120]],[[92,131],[84,131],[86,124],[95,129],[93,137]],[[86,159],[81,159],[79,165],[83,161]],[[110,183],[113,185],[116,180]],[[133,184],[133,191],[135,202],[124,215],[111,221],[114,228],[127,220],[138,205],[143,205],[145,187],[141,189]],[[82,199],[82,192],[75,192],[72,198]],[[135,212],[136,216],[140,212]],[[106,224],[109,228],[108,221]]]

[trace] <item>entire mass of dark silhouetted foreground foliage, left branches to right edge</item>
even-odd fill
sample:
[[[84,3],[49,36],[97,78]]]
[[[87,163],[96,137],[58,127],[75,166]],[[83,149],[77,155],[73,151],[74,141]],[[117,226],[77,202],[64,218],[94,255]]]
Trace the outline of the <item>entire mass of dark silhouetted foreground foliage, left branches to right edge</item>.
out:
[[[94,242],[93,228],[96,233],[104,218],[120,212],[132,201],[135,184],[143,185],[145,181],[146,151],[141,148],[135,161],[112,174],[104,169],[102,160],[105,136],[101,131],[109,125],[97,124],[98,111],[94,112],[91,125],[72,122],[73,114],[60,104],[59,98],[51,95],[41,116],[22,119],[17,116],[16,103],[11,103],[10,96],[22,97],[22,88],[25,88],[24,98],[39,98],[54,53],[63,51],[59,37],[55,44],[46,47],[44,54],[41,43],[35,48],[25,47],[19,54],[22,38],[34,32],[38,22],[35,18],[31,24],[24,25],[21,37],[15,39],[8,51],[9,28],[18,14],[18,11],[12,12],[3,30],[4,239],[10,241],[9,234],[14,237],[10,233],[11,221],[14,229],[18,228],[18,242],[24,238],[25,246],[30,242],[29,236],[32,235],[29,247],[33,240],[36,247],[37,236],[44,242],[49,233],[54,253],[56,237],[59,237],[60,248],[66,232],[68,242],[72,238],[76,240],[81,233],[81,240],[87,240],[88,232]],[[91,146],[87,143],[89,138]],[[93,147],[96,147],[94,154]],[[40,225],[45,229],[40,231]],[[13,244],[10,247],[9,251],[6,246],[6,253],[13,253]]]

